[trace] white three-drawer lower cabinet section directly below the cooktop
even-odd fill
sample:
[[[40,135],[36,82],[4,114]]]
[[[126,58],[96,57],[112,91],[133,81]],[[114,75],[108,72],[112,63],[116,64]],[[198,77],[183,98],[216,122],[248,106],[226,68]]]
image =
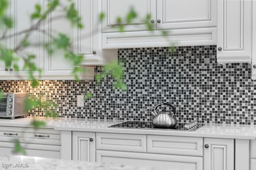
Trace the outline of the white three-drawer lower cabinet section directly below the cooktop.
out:
[[[96,133],[96,162],[102,163],[202,170],[202,148],[202,137]]]

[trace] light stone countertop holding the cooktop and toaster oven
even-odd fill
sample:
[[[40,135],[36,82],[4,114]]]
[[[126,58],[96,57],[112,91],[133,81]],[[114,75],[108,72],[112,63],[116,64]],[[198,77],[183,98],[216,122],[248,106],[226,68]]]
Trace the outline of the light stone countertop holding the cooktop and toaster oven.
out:
[[[27,117],[0,119],[0,126],[32,127],[30,122],[33,119],[46,122],[45,128],[52,128],[64,131],[87,131],[106,133],[130,133],[148,135],[174,135],[190,137],[214,137],[228,139],[256,139],[256,125],[227,125],[209,123],[195,132],[192,131],[168,131],[155,129],[123,129],[108,128],[110,125],[122,123],[120,120],[98,120],[98,119],[75,119],[75,118],[48,118],[48,117]]]

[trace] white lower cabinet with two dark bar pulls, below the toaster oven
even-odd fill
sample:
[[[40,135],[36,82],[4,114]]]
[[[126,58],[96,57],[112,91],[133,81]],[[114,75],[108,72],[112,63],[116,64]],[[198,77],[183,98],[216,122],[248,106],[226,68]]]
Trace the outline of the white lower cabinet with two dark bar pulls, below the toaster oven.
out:
[[[21,155],[13,153],[14,140],[19,141],[25,149],[26,156],[44,158],[61,158],[60,131],[54,129],[38,129],[29,127],[0,127],[0,154]]]

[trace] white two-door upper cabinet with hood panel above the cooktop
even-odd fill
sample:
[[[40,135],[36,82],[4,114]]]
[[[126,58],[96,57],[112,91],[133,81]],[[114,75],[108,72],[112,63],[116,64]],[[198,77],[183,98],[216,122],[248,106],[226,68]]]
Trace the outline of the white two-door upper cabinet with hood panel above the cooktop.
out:
[[[102,0],[102,48],[216,44],[216,6],[216,0]],[[127,22],[132,7],[137,17]],[[148,31],[147,15],[154,31]]]

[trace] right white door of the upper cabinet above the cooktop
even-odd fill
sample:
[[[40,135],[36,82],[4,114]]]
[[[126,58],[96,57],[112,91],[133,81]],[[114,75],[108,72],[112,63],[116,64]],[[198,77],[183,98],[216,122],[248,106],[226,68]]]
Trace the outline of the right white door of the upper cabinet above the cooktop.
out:
[[[157,29],[217,26],[216,0],[158,0]]]

